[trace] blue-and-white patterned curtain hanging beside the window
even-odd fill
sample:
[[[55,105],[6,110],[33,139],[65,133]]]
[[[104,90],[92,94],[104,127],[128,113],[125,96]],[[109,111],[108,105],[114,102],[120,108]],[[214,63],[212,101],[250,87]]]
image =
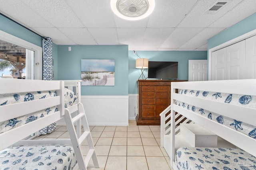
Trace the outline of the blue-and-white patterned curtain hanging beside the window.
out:
[[[43,80],[52,80],[52,39],[43,38]],[[56,129],[56,123],[41,129],[39,135],[52,133]]]

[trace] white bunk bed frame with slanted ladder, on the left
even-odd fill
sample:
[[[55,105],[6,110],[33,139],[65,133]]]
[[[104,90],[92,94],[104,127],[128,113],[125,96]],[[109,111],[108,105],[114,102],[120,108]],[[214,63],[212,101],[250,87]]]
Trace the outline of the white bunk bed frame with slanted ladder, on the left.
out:
[[[87,170],[88,162],[92,158],[94,167],[98,168],[98,160],[94,150],[90,129],[84,113],[84,107],[81,103],[64,108],[64,86],[72,89],[76,88],[76,95],[78,102],[80,102],[80,81],[81,80],[67,80],[67,81],[43,81],[43,80],[19,80],[19,79],[0,79],[0,94],[20,93],[20,92],[35,92],[56,90],[57,95],[51,98],[44,98],[40,100],[32,100],[27,102],[20,102],[15,104],[8,104],[0,106],[0,121],[6,121],[14,117],[19,117],[35,111],[39,111],[48,107],[57,106],[58,111],[50,113],[49,115],[36,119],[30,123],[15,127],[0,133],[0,150],[7,147],[20,145],[70,145],[73,146],[76,154],[77,164],[74,169]],[[73,89],[72,89],[73,90]],[[71,113],[78,112],[74,118]],[[66,140],[22,140],[32,133],[46,127],[64,118],[70,133],[70,138]],[[84,133],[81,135],[81,120],[84,127]],[[78,132],[75,132],[74,123],[77,123]],[[81,137],[80,137],[81,136]],[[90,151],[86,159],[82,156],[81,143],[87,139]]]

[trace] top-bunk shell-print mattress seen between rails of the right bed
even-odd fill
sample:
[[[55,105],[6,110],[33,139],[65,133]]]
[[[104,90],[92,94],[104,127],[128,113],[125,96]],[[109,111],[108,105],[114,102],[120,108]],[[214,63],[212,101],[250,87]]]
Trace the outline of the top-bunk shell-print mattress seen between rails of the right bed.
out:
[[[256,108],[256,96],[225,94],[225,93],[205,92],[205,91],[202,92],[202,91],[184,90],[184,89],[179,90],[179,94],[192,96],[195,98],[202,98],[205,100],[214,100],[216,102],[222,102],[230,105]],[[236,119],[232,119],[230,117],[220,115],[218,113],[214,113],[212,111],[208,111],[204,108],[192,106],[191,104],[184,103],[182,101],[176,101],[176,104],[180,107],[183,107],[185,109],[198,113],[204,117],[207,117],[208,119],[212,119],[213,121],[226,125],[232,129],[240,131],[241,133],[244,133],[256,139],[256,126],[250,125],[248,123],[244,123]]]

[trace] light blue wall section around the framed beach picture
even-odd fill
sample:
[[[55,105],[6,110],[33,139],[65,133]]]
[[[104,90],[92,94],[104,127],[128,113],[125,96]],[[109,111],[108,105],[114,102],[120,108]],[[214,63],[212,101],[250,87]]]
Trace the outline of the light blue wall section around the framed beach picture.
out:
[[[81,59],[115,60],[115,86],[82,86],[81,95],[128,96],[128,45],[58,45],[58,80],[81,80]]]

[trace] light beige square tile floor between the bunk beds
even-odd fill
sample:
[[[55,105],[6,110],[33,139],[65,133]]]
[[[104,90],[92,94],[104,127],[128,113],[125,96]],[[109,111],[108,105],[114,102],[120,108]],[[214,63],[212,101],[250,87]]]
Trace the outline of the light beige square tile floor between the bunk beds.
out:
[[[92,140],[100,168],[94,168],[92,160],[88,170],[172,170],[170,158],[160,147],[160,126],[137,126],[129,120],[129,126],[90,126]],[[49,135],[36,139],[69,139],[65,126]],[[87,141],[82,143],[82,153],[88,152]]]

